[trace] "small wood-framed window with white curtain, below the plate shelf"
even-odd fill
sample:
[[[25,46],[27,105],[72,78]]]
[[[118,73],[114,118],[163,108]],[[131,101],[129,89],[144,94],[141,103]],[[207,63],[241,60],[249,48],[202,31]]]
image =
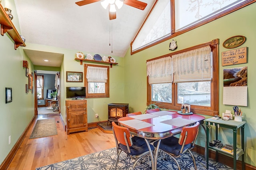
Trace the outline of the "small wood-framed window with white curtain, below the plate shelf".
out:
[[[109,67],[84,65],[86,98],[109,97]]]

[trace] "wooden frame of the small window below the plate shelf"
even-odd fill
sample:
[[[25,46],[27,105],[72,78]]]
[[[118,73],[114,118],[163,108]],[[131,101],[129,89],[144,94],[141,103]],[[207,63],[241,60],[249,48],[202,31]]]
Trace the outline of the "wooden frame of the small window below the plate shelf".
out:
[[[105,83],[105,93],[89,93],[88,87],[89,83],[86,78],[87,74],[87,67],[104,67],[107,68],[107,75],[108,79],[107,82]],[[86,87],[86,98],[108,98],[109,97],[109,66],[104,66],[104,65],[93,65],[93,64],[84,64],[84,87]]]

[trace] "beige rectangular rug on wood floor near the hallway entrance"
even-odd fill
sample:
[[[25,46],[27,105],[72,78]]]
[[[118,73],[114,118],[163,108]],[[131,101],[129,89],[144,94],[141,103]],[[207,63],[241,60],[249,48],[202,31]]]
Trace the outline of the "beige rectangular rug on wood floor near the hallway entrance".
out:
[[[36,125],[33,129],[30,139],[42,138],[46,136],[52,136],[58,134],[56,123],[54,118],[39,119],[36,121]]]

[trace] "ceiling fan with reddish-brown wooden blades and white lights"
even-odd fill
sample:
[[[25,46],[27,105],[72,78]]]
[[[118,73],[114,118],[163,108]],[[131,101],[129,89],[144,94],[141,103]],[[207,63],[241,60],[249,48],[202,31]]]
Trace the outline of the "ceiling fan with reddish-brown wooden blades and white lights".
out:
[[[101,1],[100,3],[105,9],[107,9],[107,7],[109,6],[109,20],[116,19],[116,6],[118,9],[120,9],[123,6],[123,4],[126,4],[128,6],[132,6],[140,10],[144,10],[147,6],[146,3],[138,0],[82,0],[82,1],[76,2],[76,4],[78,6],[83,6],[83,5],[91,4],[98,1]]]

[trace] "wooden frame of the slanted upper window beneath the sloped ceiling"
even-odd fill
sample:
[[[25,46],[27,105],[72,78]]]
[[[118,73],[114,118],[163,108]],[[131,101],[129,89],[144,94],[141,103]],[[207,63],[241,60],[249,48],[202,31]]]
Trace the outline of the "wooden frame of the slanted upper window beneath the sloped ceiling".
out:
[[[197,24],[194,24],[194,25],[192,25],[192,26],[188,26],[187,28],[184,28],[183,30],[180,30],[180,31],[177,31],[177,32],[176,32],[176,30],[175,30],[174,0],[170,0],[170,1],[171,1],[171,7],[170,7],[170,8],[171,8],[171,35],[170,35],[170,36],[167,36],[167,37],[165,37],[165,38],[163,38],[163,39],[157,40],[157,41],[155,41],[155,42],[149,43],[148,45],[144,45],[143,47],[140,47],[140,48],[138,48],[137,50],[132,51],[132,44],[133,44],[133,42],[135,41],[135,39],[137,38],[139,32],[142,30],[142,27],[144,26],[144,23],[146,22],[146,20],[147,20],[148,17],[150,16],[150,14],[151,14],[151,12],[152,12],[154,6],[155,6],[156,3],[158,2],[158,0],[156,0],[156,2],[154,3],[152,9],[151,9],[150,12],[148,13],[148,16],[146,17],[146,19],[145,19],[144,22],[142,23],[142,26],[141,26],[140,29],[138,30],[136,36],[134,37],[134,39],[133,39],[132,42],[130,43],[130,49],[131,49],[130,54],[131,54],[131,55],[133,55],[133,54],[135,54],[135,53],[138,53],[138,52],[140,52],[140,51],[143,51],[144,49],[147,49],[147,48],[152,47],[152,46],[154,46],[154,45],[157,45],[157,44],[159,44],[159,43],[162,43],[162,42],[164,42],[164,41],[166,41],[166,40],[170,40],[171,38],[174,38],[174,37],[176,37],[176,36],[179,36],[180,34],[183,34],[183,33],[186,33],[186,32],[188,32],[188,31],[190,31],[190,30],[193,30],[193,29],[195,29],[195,28],[198,28],[198,27],[200,27],[200,26],[202,26],[202,25],[204,25],[204,24],[207,24],[208,22],[212,22],[212,21],[214,21],[214,20],[216,20],[216,19],[218,19],[218,18],[221,18],[222,16],[226,16],[226,15],[228,15],[228,14],[230,14],[230,13],[236,11],[236,10],[239,10],[239,9],[241,9],[241,8],[244,8],[245,6],[248,6],[248,5],[250,5],[250,4],[254,3],[254,2],[256,2],[256,0],[246,0],[246,1],[241,2],[240,4],[238,4],[238,5],[236,5],[236,6],[233,6],[232,8],[229,8],[228,10],[225,10],[225,11],[223,11],[223,12],[220,12],[220,13],[216,14],[215,16],[211,16],[211,17],[209,17],[209,18],[206,19],[206,20],[203,20],[203,21],[201,21],[201,22],[198,22]]]

